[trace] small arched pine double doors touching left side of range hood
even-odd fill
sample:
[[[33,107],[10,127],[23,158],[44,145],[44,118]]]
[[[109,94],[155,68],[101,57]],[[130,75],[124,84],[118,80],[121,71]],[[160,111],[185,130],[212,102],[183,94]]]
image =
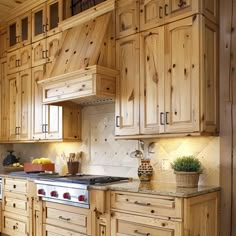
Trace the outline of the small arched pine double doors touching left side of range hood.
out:
[[[32,44],[32,67],[53,61],[61,49],[62,33],[54,34]]]

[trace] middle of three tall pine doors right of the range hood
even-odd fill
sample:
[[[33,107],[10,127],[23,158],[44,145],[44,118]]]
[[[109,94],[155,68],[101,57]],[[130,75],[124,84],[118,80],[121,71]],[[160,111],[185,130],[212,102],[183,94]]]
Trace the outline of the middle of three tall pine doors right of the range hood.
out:
[[[164,27],[143,32],[140,45],[140,129],[142,134],[162,133]]]

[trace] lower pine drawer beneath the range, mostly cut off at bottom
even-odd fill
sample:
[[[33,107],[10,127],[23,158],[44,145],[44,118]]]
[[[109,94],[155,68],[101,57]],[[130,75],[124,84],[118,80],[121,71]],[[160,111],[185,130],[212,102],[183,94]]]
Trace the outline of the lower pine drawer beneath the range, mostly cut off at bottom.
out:
[[[71,230],[62,229],[52,225],[43,225],[43,236],[85,236]]]

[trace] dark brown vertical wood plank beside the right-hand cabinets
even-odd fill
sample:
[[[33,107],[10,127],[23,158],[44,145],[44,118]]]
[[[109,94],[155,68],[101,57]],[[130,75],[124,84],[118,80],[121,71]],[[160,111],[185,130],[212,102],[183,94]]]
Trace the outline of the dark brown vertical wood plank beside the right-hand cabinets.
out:
[[[220,6],[220,185],[221,232],[230,236],[232,226],[232,98],[230,81],[230,50],[232,0],[222,0]]]

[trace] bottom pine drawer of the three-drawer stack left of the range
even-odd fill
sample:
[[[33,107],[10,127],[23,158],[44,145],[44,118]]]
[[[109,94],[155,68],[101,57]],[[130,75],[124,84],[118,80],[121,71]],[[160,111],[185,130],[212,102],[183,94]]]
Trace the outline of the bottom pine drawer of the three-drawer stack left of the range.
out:
[[[2,232],[11,236],[28,236],[29,220],[25,216],[3,211]]]

